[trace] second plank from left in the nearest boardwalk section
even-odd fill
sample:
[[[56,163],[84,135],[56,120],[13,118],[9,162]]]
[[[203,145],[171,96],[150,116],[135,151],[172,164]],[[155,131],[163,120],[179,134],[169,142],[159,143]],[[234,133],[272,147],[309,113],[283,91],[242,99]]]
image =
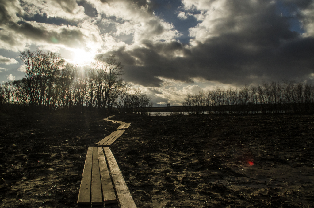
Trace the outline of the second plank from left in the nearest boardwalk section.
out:
[[[99,170],[97,147],[93,148],[92,188],[91,188],[90,204],[102,205],[102,193],[101,193],[100,170]]]

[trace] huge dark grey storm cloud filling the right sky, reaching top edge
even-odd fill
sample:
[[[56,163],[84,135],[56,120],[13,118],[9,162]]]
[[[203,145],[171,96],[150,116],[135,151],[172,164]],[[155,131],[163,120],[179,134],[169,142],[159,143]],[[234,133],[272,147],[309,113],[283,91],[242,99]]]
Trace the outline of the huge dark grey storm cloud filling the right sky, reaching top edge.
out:
[[[306,1],[299,4],[308,6]],[[217,36],[190,47],[144,40],[145,47],[120,49],[116,55],[125,65],[126,80],[143,86],[160,87],[163,81],[157,77],[185,82],[202,77],[236,85],[304,79],[314,72],[314,40],[291,31],[289,18],[276,9],[270,1],[255,7],[230,1],[230,15],[215,25]]]

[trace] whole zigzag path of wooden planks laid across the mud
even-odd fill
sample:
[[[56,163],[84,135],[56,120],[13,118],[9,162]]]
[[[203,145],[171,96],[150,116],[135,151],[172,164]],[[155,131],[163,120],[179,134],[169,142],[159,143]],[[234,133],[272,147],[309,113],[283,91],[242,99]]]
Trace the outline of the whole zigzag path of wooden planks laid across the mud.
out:
[[[121,125],[116,131],[97,142],[98,147],[89,147],[87,150],[78,193],[78,204],[102,205],[116,203],[117,195],[121,208],[136,208],[116,159],[109,149],[131,123],[109,120],[113,116],[104,120],[120,123]],[[111,181],[110,173],[113,182]],[[116,193],[114,190],[116,190]]]

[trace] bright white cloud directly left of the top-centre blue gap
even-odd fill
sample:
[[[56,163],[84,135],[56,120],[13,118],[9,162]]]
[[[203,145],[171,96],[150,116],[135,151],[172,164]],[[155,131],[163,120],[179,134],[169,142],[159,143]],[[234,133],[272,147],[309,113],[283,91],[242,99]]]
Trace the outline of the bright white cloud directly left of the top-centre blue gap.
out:
[[[143,40],[168,42],[181,35],[171,23],[155,16],[147,6],[138,7],[133,1],[127,0],[108,1],[109,3],[101,3],[98,0],[90,2],[95,5],[98,13],[117,19],[114,35],[133,34],[134,47],[142,44]]]

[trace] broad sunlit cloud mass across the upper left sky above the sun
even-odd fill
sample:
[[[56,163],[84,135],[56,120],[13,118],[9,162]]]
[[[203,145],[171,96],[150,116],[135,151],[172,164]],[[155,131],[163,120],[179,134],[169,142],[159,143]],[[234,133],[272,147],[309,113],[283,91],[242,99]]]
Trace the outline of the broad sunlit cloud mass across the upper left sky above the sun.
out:
[[[156,17],[147,1],[14,0],[3,7],[0,44],[16,52],[30,45],[108,52],[138,47],[143,39],[168,42],[181,35]]]

